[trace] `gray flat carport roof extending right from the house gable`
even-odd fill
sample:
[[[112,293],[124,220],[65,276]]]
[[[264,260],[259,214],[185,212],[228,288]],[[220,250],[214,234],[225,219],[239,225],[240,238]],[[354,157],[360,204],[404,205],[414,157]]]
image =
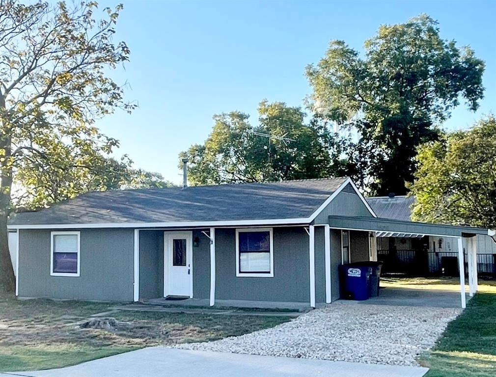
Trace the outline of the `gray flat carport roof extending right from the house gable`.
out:
[[[490,235],[488,229],[468,226],[417,223],[412,221],[358,216],[329,216],[329,227],[334,229],[390,232],[407,235],[462,237],[476,234]]]

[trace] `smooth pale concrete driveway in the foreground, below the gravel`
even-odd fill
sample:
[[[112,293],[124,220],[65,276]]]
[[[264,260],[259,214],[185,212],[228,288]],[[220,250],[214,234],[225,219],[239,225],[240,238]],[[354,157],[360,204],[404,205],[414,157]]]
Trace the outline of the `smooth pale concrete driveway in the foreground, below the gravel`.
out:
[[[427,368],[150,347],[73,367],[0,377],[421,377]]]

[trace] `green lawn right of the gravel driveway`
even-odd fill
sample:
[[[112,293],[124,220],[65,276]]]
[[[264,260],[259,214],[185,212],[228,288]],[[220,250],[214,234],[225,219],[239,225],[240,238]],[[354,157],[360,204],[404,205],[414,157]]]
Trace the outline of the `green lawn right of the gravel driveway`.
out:
[[[421,363],[427,377],[496,376],[496,295],[475,295]]]

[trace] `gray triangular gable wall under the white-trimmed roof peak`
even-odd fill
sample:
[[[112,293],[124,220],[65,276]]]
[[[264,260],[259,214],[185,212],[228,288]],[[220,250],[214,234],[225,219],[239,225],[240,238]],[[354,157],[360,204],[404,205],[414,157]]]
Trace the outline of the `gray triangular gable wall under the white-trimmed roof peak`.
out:
[[[315,225],[329,224],[329,215],[372,217],[369,209],[356,192],[345,191],[337,194],[327,207],[315,217],[313,223]]]

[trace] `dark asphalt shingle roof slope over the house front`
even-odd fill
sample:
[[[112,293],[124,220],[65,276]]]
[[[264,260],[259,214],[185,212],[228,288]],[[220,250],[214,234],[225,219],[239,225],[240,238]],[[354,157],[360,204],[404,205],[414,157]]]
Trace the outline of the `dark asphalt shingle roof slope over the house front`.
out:
[[[90,192],[11,225],[236,221],[307,218],[347,178]]]

